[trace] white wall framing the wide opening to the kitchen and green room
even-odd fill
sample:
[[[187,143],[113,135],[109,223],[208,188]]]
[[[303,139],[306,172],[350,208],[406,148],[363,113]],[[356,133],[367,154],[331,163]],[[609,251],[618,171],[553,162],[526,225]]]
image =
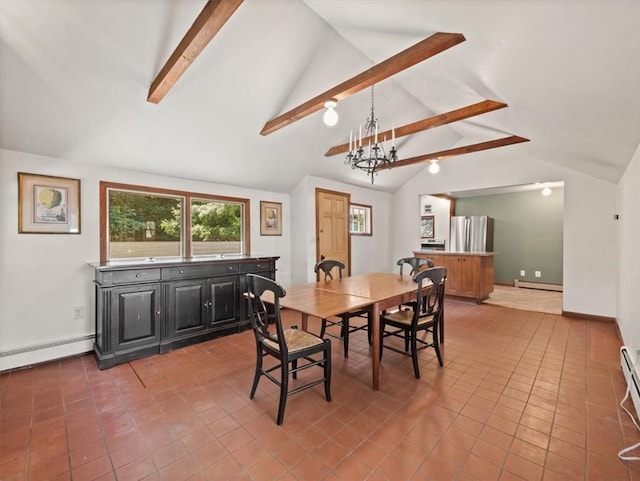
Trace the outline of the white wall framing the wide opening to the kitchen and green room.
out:
[[[442,162],[439,174],[431,175],[425,169],[399,189],[393,197],[393,257],[407,256],[415,248],[415,240],[406,235],[404,226],[420,216],[416,196],[562,180],[565,182],[563,309],[615,317],[616,186],[547,162],[505,158],[509,155],[507,151],[482,157],[481,162],[474,154],[447,159]]]

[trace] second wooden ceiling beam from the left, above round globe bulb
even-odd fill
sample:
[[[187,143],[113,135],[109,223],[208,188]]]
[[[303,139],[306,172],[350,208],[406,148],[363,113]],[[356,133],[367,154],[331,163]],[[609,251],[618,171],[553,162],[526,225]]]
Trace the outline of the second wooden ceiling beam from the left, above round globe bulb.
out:
[[[434,55],[464,41],[464,35],[461,33],[435,33],[412,47],[409,47],[393,57],[379,63],[378,65],[374,65],[355,77],[342,82],[340,85],[337,85],[311,100],[298,105],[288,112],[269,120],[264,124],[260,134],[269,135],[282,127],[321,110],[324,108],[324,103],[327,100],[343,100],[360,90],[371,87],[372,85],[391,77],[398,72],[422,62],[429,57],[433,57]]]

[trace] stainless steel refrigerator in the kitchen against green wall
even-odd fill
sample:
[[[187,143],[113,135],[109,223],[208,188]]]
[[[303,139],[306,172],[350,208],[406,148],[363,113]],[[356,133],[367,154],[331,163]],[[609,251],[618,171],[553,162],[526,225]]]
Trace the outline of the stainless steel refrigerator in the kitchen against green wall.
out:
[[[451,217],[449,250],[493,252],[493,218],[486,215]]]

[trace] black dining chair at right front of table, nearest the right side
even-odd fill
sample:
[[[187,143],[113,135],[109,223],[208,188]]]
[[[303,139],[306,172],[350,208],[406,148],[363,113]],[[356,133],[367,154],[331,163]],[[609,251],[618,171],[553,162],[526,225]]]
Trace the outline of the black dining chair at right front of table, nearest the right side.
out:
[[[416,306],[420,309],[406,309],[394,312],[384,312],[380,315],[380,359],[384,349],[410,356],[413,361],[413,372],[416,379],[420,379],[418,367],[418,352],[432,347],[436,351],[438,363],[442,366],[442,353],[438,341],[438,331],[442,328],[444,313],[444,287],[447,280],[447,269],[444,267],[432,267],[419,272],[414,280],[418,287],[416,290]],[[431,286],[427,286],[431,281]],[[427,292],[425,292],[427,291]],[[423,299],[425,302],[423,302]],[[386,328],[391,330],[387,331]],[[418,338],[418,333],[431,334],[431,341]],[[404,340],[404,351],[389,343],[385,339],[398,337]]]

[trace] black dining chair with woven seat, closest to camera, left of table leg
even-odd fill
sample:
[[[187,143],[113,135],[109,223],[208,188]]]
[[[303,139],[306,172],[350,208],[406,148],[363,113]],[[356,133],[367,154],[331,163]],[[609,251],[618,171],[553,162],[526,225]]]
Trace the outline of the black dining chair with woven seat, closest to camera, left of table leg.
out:
[[[247,274],[247,304],[251,326],[256,340],[256,370],[251,386],[250,399],[256,394],[262,376],[280,387],[278,417],[276,423],[282,425],[287,397],[318,384],[324,383],[324,394],[331,402],[331,341],[292,326],[284,329],[280,317],[280,299],[286,296],[284,288],[277,282],[257,274]],[[264,295],[267,294],[267,304]],[[278,363],[265,367],[263,360],[271,356]],[[299,362],[300,361],[300,362]],[[299,371],[311,367],[323,369],[321,378],[313,378],[304,384],[296,383],[289,389],[289,376],[298,378]],[[279,378],[272,374],[280,371]]]

